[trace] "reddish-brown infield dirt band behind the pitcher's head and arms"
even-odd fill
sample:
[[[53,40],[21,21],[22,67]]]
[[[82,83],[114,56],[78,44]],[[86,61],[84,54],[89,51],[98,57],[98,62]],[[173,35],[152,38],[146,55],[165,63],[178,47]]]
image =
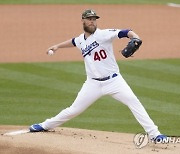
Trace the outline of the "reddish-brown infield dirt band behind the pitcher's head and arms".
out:
[[[83,60],[77,48],[58,50],[48,57],[46,50],[82,33],[81,13],[93,8],[104,28],[130,28],[143,40],[131,59],[180,57],[180,8],[162,5],[0,5],[0,62]],[[115,40],[118,52],[128,39]]]

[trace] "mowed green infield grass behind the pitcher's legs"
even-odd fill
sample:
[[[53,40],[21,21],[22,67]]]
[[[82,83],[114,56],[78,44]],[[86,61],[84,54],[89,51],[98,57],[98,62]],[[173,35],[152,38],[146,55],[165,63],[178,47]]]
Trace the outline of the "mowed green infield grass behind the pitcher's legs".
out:
[[[180,59],[118,62],[162,133],[180,134]],[[0,124],[31,125],[70,106],[86,79],[83,62],[0,64]],[[63,126],[142,132],[130,110],[105,96]]]

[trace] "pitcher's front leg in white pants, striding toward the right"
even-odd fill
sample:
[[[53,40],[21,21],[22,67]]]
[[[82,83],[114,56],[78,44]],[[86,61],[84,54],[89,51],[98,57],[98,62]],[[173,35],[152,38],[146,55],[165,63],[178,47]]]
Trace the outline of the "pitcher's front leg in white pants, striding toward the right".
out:
[[[158,131],[158,127],[149,117],[141,102],[135,96],[122,76],[118,76],[112,84],[114,84],[115,87],[115,93],[112,94],[112,97],[129,107],[137,121],[149,134],[150,138],[154,138],[159,135],[160,132]]]

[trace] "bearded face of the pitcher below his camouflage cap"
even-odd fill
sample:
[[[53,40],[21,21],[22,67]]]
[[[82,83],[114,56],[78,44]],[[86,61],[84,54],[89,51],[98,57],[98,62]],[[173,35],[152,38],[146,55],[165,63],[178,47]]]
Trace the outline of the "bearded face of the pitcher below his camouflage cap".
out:
[[[96,17],[89,17],[86,19],[82,19],[83,21],[83,29],[85,32],[89,34],[93,34],[96,31],[97,23]]]

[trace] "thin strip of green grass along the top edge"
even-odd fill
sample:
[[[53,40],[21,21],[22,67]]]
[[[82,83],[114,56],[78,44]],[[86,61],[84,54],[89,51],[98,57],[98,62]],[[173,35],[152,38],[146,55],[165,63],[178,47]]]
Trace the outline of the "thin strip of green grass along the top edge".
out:
[[[166,4],[180,0],[0,0],[0,4]]]

